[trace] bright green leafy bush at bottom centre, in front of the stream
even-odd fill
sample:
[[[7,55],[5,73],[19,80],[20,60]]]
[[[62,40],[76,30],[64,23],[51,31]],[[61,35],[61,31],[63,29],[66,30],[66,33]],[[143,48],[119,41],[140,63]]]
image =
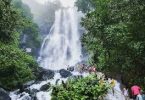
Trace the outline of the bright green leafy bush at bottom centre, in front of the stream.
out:
[[[66,84],[54,87],[52,100],[102,100],[109,85],[99,82],[95,75],[70,79]]]

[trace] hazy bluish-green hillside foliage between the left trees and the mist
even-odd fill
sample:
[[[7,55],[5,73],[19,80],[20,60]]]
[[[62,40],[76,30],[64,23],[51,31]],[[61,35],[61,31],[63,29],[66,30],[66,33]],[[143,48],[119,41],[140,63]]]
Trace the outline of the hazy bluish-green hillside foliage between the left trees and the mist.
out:
[[[41,42],[39,27],[34,23],[31,10],[27,5],[23,4],[21,0],[13,0],[12,4],[19,10],[23,18],[22,29],[17,29],[21,33],[20,47],[23,49],[32,48],[31,54],[36,56],[37,48],[40,47]]]

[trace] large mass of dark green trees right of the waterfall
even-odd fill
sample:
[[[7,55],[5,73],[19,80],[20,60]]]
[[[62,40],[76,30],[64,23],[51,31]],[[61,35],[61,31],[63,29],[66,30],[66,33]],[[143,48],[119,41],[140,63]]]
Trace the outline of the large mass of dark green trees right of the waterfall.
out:
[[[93,0],[82,20],[83,45],[90,63],[109,74],[121,74],[128,85],[145,84],[145,1]]]

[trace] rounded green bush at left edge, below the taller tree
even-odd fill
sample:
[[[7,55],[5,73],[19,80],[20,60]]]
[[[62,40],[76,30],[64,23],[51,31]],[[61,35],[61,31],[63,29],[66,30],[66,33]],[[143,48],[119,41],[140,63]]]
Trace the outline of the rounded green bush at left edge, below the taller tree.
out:
[[[0,85],[14,89],[33,79],[37,67],[33,58],[14,46],[0,45]]]

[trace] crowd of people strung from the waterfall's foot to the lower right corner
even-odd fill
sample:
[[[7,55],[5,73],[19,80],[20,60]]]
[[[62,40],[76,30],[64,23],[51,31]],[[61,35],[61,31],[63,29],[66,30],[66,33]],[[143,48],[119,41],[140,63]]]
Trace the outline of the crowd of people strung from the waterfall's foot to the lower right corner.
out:
[[[78,66],[76,67],[77,68],[77,71],[80,72],[80,73],[83,73],[83,72],[89,72],[89,73],[97,73],[97,69],[95,66],[87,66],[85,64],[78,64]],[[114,87],[115,87],[115,84],[116,84],[116,81],[115,79],[113,78],[106,78],[106,76],[103,76],[104,79],[103,80],[108,80],[110,86],[112,87],[112,92],[113,92],[113,95],[114,95]],[[141,87],[140,86],[137,86],[137,85],[134,85],[129,89],[127,88],[123,88],[122,89],[122,95],[124,95],[125,97],[125,100],[145,100],[145,93],[142,91]],[[130,99],[132,98],[132,99]]]

